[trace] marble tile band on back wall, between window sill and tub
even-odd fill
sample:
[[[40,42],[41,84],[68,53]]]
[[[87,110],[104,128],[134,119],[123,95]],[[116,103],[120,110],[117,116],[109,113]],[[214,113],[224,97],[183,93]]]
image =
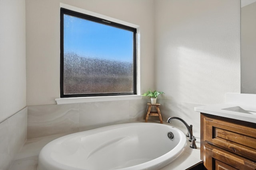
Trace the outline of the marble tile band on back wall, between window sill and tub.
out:
[[[28,139],[143,119],[148,100],[28,106]]]

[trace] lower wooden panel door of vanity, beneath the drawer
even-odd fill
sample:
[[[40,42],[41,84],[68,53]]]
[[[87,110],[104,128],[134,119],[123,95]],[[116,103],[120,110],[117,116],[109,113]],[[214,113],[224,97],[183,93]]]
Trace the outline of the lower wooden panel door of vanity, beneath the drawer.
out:
[[[204,166],[207,170],[256,170],[256,162],[204,143]]]

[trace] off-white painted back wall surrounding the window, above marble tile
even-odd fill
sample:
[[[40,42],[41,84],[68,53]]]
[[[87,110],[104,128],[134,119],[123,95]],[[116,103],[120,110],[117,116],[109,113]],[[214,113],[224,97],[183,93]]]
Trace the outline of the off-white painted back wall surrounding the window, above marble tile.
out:
[[[141,91],[154,88],[154,0],[26,0],[28,106],[60,97],[60,2],[140,25]]]

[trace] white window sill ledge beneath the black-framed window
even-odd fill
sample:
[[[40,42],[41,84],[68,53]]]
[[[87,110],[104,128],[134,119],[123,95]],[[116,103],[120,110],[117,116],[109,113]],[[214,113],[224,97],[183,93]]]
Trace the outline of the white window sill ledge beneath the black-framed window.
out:
[[[105,102],[115,100],[138,100],[142,99],[141,95],[125,95],[125,96],[94,96],[94,97],[79,97],[79,98],[58,98],[55,99],[57,104],[73,104],[87,102]]]

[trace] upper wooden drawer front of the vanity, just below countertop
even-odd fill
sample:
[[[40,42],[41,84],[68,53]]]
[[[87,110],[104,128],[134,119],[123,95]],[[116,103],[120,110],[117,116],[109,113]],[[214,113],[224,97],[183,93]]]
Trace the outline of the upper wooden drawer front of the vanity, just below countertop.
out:
[[[250,124],[248,127],[244,126],[243,124],[246,123],[242,121],[230,123],[222,118],[212,119],[204,115],[201,121],[204,126],[201,128],[205,129],[203,134],[201,133],[203,141],[256,161],[255,124]]]

